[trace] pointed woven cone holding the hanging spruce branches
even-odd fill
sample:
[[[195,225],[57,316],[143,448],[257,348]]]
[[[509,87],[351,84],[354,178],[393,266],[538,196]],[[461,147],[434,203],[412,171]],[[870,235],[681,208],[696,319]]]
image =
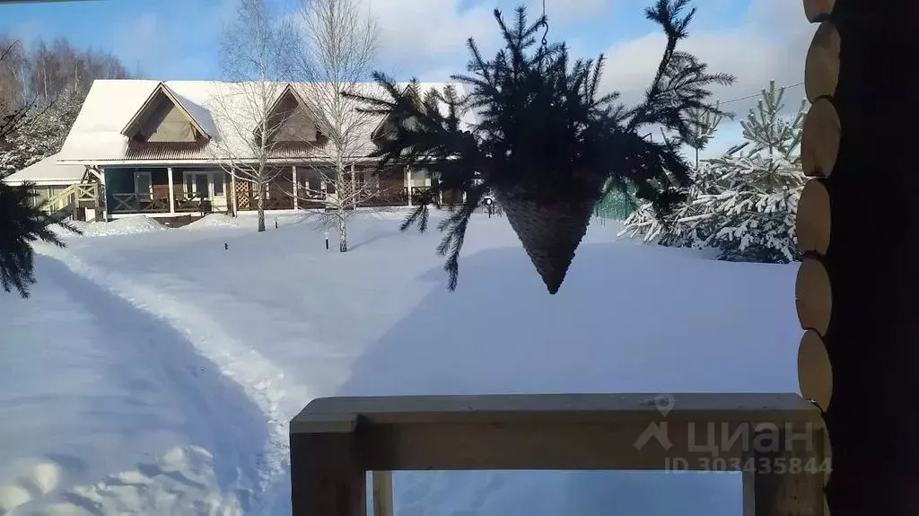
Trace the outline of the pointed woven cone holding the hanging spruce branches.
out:
[[[506,192],[498,202],[542,281],[555,294],[562,286],[574,251],[587,232],[594,201],[539,203]]]

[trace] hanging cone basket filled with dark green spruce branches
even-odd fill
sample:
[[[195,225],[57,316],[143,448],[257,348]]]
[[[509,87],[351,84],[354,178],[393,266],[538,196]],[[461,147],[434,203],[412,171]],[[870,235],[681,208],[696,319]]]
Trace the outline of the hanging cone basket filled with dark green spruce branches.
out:
[[[696,126],[688,113],[717,113],[709,88],[733,81],[730,75],[709,73],[704,62],[677,49],[696,12],[687,6],[688,0],[657,0],[645,10],[667,43],[651,85],[634,107],[618,103],[615,92],[600,91],[603,56],[574,60],[563,43],[546,42],[546,17],[530,23],[523,8],[516,10],[513,24],[494,12],[505,48],[492,60],[468,41],[469,74],[453,76],[469,87],[468,94],[452,87],[422,94],[415,82],[406,89],[378,73],[375,78],[389,98],[355,95],[368,104],[367,111],[394,122],[373,154],[381,158],[380,167],[440,174],[403,230],[413,225],[425,230],[427,205],[441,192],[467,194],[463,206],[439,225],[446,234],[437,252],[447,256],[450,289],[457,285],[470,217],[486,193],[494,192],[552,294],[597,202],[611,190],[634,191],[662,213],[680,198],[691,164],[678,141],[689,138]],[[466,122],[470,112],[478,119],[471,125]],[[660,128],[675,136],[647,138]]]

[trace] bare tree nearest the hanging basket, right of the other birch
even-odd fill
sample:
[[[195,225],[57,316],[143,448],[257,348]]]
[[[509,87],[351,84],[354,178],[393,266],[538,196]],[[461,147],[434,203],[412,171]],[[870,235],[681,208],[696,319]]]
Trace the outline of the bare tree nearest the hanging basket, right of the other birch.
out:
[[[380,176],[361,170],[367,165],[370,135],[379,118],[362,110],[345,94],[367,94],[376,57],[379,29],[357,0],[301,0],[296,13],[301,28],[296,71],[310,79],[309,99],[327,141],[312,149],[308,181],[297,190],[305,201],[319,199],[322,209],[311,215],[337,226],[338,247],[347,252],[348,219],[355,208],[387,193]],[[318,181],[316,181],[318,179]]]

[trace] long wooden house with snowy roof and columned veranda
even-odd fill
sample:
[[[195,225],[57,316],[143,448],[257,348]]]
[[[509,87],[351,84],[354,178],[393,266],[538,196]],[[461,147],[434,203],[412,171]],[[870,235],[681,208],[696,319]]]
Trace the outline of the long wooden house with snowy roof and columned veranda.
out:
[[[94,188],[99,219],[254,210],[259,196],[268,210],[325,208],[338,195],[328,180],[338,152],[326,92],[308,83],[96,80],[62,151],[42,170],[69,171],[68,186]],[[346,184],[367,193],[353,208],[411,205],[436,174],[378,170],[369,153],[388,120],[362,116],[346,144]],[[259,187],[253,170],[270,180]],[[17,180],[32,180],[21,172]],[[461,200],[447,197],[441,202]]]

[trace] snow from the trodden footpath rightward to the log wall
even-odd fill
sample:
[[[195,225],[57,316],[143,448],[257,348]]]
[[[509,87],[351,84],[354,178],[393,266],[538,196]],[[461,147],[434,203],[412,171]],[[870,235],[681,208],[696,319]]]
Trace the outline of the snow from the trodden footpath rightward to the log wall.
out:
[[[599,225],[563,291],[546,296],[506,222],[473,222],[456,293],[444,290],[437,232],[400,234],[398,219],[356,223],[346,255],[299,223],[258,234],[126,219],[118,230],[146,232],[74,238],[64,259],[176,329],[184,353],[261,410],[244,447],[261,487],[247,513],[289,514],[286,422],[317,396],[796,389],[793,265],[714,262]],[[741,511],[736,475],[402,472],[393,488],[398,516]]]

